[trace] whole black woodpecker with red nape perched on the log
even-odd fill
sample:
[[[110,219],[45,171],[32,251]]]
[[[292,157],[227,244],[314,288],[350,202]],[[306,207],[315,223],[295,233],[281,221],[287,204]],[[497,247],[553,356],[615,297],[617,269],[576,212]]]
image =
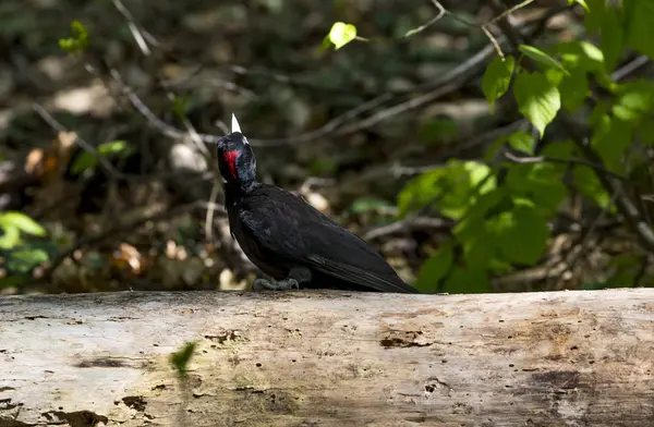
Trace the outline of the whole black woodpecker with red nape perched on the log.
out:
[[[254,290],[417,292],[363,240],[292,193],[257,182],[254,152],[233,114],[217,155],[231,234],[275,279],[255,280]]]

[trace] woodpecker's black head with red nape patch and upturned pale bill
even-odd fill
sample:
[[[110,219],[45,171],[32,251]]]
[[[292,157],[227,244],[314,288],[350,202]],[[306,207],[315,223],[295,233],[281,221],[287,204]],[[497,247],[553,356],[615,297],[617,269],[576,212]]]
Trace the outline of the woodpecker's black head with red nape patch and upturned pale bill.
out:
[[[249,185],[256,178],[256,159],[237,117],[232,114],[231,132],[218,142],[218,169],[227,182]]]

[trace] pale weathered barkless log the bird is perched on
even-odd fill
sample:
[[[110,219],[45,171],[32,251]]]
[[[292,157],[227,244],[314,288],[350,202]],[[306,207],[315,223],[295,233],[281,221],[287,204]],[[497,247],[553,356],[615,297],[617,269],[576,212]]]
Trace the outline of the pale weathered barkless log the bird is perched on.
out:
[[[94,423],[654,426],[654,290],[0,298],[0,426]]]

